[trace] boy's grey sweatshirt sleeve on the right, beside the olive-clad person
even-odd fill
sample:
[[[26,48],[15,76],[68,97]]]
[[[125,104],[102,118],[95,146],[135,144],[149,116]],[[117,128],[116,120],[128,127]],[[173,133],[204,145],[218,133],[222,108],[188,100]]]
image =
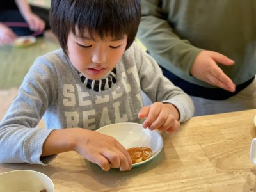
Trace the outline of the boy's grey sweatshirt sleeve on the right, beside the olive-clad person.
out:
[[[148,95],[152,102],[167,102],[173,104],[180,113],[179,122],[189,120],[194,114],[191,98],[169,79],[163,76],[156,61],[134,44],[134,58],[138,63],[141,90]]]

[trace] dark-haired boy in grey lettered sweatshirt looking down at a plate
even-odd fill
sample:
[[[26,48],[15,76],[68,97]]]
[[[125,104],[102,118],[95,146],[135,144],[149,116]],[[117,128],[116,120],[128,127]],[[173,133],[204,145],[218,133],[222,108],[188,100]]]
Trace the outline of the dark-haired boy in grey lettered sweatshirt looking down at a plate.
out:
[[[103,170],[131,169],[114,138],[93,130],[117,122],[172,132],[193,102],[134,42],[140,0],[52,0],[61,49],[36,59],[0,124],[0,162],[48,164],[75,150]],[[143,107],[141,90],[152,101]],[[44,116],[47,129],[36,128]],[[65,129],[63,129],[65,128]]]

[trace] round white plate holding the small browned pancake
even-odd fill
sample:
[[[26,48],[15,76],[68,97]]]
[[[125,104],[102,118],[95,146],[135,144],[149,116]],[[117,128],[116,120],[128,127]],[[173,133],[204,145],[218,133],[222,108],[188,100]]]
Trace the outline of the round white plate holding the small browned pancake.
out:
[[[132,164],[132,168],[154,159],[163,148],[163,138],[159,132],[145,129],[141,124],[128,122],[111,124],[101,127],[96,131],[113,136],[113,138],[118,140],[127,149],[131,147],[152,148],[153,156],[140,163]]]

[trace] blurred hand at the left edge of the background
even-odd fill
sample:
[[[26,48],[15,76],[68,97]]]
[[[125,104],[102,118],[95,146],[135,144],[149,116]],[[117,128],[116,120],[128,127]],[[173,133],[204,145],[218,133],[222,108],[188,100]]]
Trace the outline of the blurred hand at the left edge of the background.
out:
[[[8,26],[0,23],[0,46],[10,45],[17,35]]]

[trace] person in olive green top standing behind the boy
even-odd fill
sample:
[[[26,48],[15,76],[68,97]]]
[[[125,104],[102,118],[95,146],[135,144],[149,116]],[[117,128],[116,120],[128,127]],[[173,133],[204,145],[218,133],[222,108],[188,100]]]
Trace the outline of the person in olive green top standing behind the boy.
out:
[[[141,0],[138,39],[195,116],[256,108],[256,1]]]

